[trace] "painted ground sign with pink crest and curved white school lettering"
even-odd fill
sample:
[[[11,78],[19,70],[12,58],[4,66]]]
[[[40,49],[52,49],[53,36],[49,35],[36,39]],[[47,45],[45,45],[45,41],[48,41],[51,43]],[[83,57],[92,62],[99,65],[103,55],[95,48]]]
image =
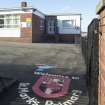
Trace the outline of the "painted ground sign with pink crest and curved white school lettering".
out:
[[[79,82],[79,77],[61,77],[39,75],[34,84],[21,82],[18,87],[19,102],[25,105],[75,105],[82,90],[72,85]]]

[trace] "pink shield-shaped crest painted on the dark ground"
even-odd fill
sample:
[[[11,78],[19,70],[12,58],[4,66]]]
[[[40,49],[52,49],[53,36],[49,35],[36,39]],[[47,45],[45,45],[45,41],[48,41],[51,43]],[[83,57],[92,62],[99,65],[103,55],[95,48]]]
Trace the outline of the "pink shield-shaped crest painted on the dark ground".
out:
[[[69,78],[44,75],[35,82],[32,90],[45,99],[58,98],[68,93],[69,84]]]

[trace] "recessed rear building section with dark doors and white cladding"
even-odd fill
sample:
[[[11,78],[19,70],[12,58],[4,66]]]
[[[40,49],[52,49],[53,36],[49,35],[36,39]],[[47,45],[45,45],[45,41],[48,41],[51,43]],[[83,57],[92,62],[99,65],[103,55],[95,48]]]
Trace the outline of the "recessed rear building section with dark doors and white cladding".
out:
[[[81,14],[53,14],[46,16],[48,40],[79,43],[81,35]]]

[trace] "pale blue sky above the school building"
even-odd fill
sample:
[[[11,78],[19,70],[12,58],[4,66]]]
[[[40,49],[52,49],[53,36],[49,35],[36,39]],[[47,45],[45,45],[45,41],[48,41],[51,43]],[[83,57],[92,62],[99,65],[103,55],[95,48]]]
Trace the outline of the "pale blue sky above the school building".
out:
[[[0,8],[19,7],[22,0],[0,0]],[[24,0],[45,14],[50,13],[81,13],[82,31],[96,17],[96,5],[99,0]]]

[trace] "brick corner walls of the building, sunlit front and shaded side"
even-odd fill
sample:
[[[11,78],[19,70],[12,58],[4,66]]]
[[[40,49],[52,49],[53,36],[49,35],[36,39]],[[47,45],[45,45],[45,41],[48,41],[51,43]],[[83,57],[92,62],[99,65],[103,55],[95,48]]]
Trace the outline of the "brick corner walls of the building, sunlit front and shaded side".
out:
[[[40,28],[40,21],[44,19],[35,14],[22,14],[21,22],[26,21],[27,18],[32,19],[32,27],[21,28],[21,37],[30,38],[31,42],[41,42],[43,39],[44,30]]]

